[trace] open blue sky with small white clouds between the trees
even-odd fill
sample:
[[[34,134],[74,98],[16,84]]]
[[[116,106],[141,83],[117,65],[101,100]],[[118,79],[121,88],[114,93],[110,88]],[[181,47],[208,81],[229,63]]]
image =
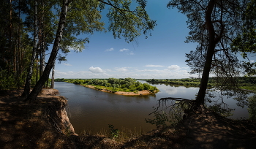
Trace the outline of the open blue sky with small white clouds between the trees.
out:
[[[157,26],[152,36],[142,34],[135,42],[114,39],[111,32],[85,34],[89,44],[81,53],[67,55],[56,63],[56,78],[155,78],[195,77],[189,75],[185,53],[195,50],[196,43],[184,43],[188,36],[186,16],[177,9],[167,9],[168,0],[148,0],[146,10]],[[102,16],[106,20],[105,16]],[[108,22],[106,22],[108,23]]]

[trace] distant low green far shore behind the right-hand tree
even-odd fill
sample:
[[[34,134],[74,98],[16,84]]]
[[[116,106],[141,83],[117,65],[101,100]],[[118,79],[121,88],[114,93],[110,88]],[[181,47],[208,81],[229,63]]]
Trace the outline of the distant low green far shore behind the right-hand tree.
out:
[[[184,86],[200,86],[199,78],[186,78],[186,79],[140,79],[145,80],[148,83],[165,83],[172,85],[184,85]],[[256,91],[256,77],[238,77],[236,79],[238,85],[243,89]],[[217,85],[217,78],[210,77],[208,80],[208,87],[215,87]]]

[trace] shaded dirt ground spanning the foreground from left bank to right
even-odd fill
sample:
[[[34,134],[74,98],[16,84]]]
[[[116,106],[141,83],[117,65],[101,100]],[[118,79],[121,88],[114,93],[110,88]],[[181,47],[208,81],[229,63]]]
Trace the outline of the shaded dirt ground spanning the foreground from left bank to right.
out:
[[[205,110],[192,113],[176,127],[159,128],[116,142],[107,136],[61,131],[61,124],[49,118],[53,104],[65,103],[57,91],[44,90],[27,104],[20,91],[0,91],[0,148],[256,148],[256,124],[235,121]],[[62,102],[51,102],[62,101]],[[50,104],[49,104],[50,103]]]

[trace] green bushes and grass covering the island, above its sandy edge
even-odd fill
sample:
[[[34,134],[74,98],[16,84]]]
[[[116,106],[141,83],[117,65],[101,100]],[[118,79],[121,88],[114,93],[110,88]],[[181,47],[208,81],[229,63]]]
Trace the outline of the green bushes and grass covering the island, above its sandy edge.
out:
[[[159,91],[157,87],[149,85],[148,83],[140,83],[136,79],[130,77],[124,79],[108,78],[108,79],[56,79],[56,82],[75,83],[80,85],[94,85],[97,89],[106,88],[109,91],[126,91],[126,92],[138,92],[143,90],[156,93]]]

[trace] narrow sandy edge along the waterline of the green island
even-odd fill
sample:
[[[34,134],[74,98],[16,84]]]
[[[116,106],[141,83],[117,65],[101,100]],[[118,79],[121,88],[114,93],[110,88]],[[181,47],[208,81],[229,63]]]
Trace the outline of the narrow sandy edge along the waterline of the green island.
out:
[[[95,88],[94,86],[92,85],[82,85],[86,88],[93,88],[93,89],[96,89],[98,90],[97,88]],[[102,89],[102,90],[98,90],[98,91],[104,91],[104,92],[108,92],[108,93],[113,93],[112,91],[109,91],[107,89]],[[117,91],[115,92],[115,94],[118,94],[118,95],[127,95],[127,96],[136,96],[136,95],[149,95],[149,94],[152,94],[151,91],[148,91],[148,90],[143,90],[143,91],[138,91],[138,93],[134,93],[134,92],[125,92],[125,91]]]

